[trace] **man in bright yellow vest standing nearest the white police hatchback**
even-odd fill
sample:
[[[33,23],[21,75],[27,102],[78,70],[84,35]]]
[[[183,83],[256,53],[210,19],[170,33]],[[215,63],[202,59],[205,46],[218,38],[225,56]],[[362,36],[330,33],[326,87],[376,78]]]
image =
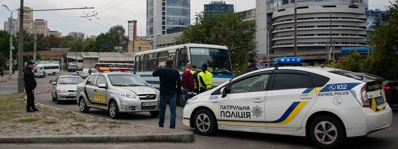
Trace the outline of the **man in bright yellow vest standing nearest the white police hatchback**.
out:
[[[205,92],[213,87],[213,74],[207,72],[207,64],[202,65],[202,72],[198,74],[199,92]]]

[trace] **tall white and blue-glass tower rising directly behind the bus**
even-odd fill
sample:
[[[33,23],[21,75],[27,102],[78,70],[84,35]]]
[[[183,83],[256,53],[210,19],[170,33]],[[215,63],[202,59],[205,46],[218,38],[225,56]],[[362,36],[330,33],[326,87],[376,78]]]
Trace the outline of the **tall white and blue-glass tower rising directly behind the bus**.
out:
[[[182,32],[191,24],[191,0],[147,0],[147,41],[157,49],[156,38]]]

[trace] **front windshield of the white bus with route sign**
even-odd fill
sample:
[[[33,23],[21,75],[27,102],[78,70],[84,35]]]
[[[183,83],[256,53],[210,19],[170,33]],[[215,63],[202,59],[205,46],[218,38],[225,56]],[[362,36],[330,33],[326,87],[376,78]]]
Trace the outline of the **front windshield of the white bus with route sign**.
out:
[[[212,74],[232,75],[228,50],[212,48],[190,48],[191,63],[201,71],[202,64],[208,65],[207,71]]]

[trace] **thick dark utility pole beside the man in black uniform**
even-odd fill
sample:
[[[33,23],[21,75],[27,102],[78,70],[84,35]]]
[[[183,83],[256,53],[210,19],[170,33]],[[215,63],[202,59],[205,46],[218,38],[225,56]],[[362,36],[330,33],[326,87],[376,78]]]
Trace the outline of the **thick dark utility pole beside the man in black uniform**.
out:
[[[18,93],[23,93],[23,0],[20,2],[19,8],[19,37],[18,37]]]

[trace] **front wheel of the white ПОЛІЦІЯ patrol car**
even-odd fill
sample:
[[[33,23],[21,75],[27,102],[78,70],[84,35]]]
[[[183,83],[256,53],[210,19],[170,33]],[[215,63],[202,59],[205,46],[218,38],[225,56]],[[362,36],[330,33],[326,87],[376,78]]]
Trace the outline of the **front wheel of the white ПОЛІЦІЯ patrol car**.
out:
[[[195,131],[202,136],[213,135],[218,127],[214,114],[207,109],[200,109],[194,117]]]

